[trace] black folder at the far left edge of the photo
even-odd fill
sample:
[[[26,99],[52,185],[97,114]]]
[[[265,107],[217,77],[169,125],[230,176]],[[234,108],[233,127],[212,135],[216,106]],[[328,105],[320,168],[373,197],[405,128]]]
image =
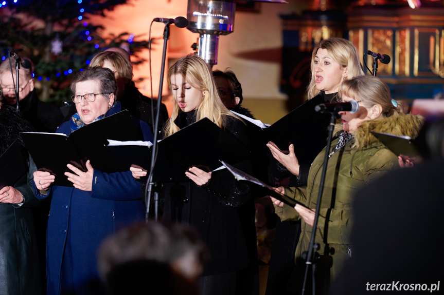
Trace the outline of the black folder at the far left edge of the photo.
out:
[[[0,156],[0,189],[13,186],[25,172],[20,144],[15,140]]]

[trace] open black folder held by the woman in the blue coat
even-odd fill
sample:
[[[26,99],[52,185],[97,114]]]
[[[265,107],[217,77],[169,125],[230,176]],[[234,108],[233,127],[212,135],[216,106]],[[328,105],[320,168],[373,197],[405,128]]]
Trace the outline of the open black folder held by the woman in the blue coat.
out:
[[[87,160],[91,161],[94,169],[101,172],[129,170],[130,165],[104,146],[108,144],[108,139],[140,140],[127,110],[88,124],[69,135],[23,132],[21,136],[37,168],[55,175],[54,185],[59,186],[73,186],[64,175],[64,172],[73,173],[66,167],[67,164],[72,164],[83,172],[87,170]]]

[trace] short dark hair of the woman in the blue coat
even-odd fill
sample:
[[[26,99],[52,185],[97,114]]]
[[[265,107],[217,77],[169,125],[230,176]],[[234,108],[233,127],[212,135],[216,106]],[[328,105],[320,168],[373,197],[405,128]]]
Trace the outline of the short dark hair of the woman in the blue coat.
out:
[[[71,80],[70,89],[73,94],[76,94],[76,84],[78,82],[92,80],[98,81],[100,83],[100,93],[114,93],[114,95],[117,93],[117,82],[116,78],[114,77],[113,71],[108,68],[102,68],[98,66],[86,68],[83,71],[78,72],[74,76],[73,80]],[[105,97],[107,100],[110,98],[109,95],[105,95]]]

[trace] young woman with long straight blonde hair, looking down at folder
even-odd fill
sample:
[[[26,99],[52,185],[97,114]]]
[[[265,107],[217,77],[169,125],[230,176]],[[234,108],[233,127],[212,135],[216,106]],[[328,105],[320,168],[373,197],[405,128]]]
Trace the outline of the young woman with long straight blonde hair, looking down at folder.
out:
[[[245,124],[223,105],[211,71],[200,56],[180,58],[167,77],[174,108],[164,127],[165,136],[206,117],[248,144]],[[250,161],[235,166],[251,170]],[[146,175],[141,169],[132,171],[136,178]],[[250,187],[237,182],[226,169],[206,172],[192,167],[185,174],[190,181],[165,184],[163,220],[189,224],[208,246],[210,258],[199,278],[200,293],[251,294],[257,252]]]

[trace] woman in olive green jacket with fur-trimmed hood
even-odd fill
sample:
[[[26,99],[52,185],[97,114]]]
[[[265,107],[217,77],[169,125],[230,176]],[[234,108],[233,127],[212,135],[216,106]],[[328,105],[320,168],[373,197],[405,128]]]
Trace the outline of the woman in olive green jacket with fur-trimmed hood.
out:
[[[349,233],[353,224],[354,193],[383,173],[399,167],[396,155],[380,143],[370,131],[416,137],[422,117],[404,114],[405,104],[390,99],[387,85],[377,77],[359,76],[344,81],[339,90],[344,102],[356,100],[356,113],[340,112],[342,122],[335,126],[335,137],[329,147],[324,191],[319,211],[315,243],[317,250],[316,291],[323,293],[339,274],[343,262],[352,256]],[[324,164],[325,148],[311,165],[308,185],[285,188],[285,194],[301,204],[295,208],[272,198],[275,212],[283,220],[302,220],[301,235],[296,247],[292,287],[300,291],[305,261],[301,255],[308,250],[319,183]],[[282,193],[283,187],[276,189]],[[310,209],[307,209],[310,208]],[[377,214],[377,212],[375,212]],[[301,267],[302,266],[302,267]],[[308,282],[311,285],[310,282]]]

